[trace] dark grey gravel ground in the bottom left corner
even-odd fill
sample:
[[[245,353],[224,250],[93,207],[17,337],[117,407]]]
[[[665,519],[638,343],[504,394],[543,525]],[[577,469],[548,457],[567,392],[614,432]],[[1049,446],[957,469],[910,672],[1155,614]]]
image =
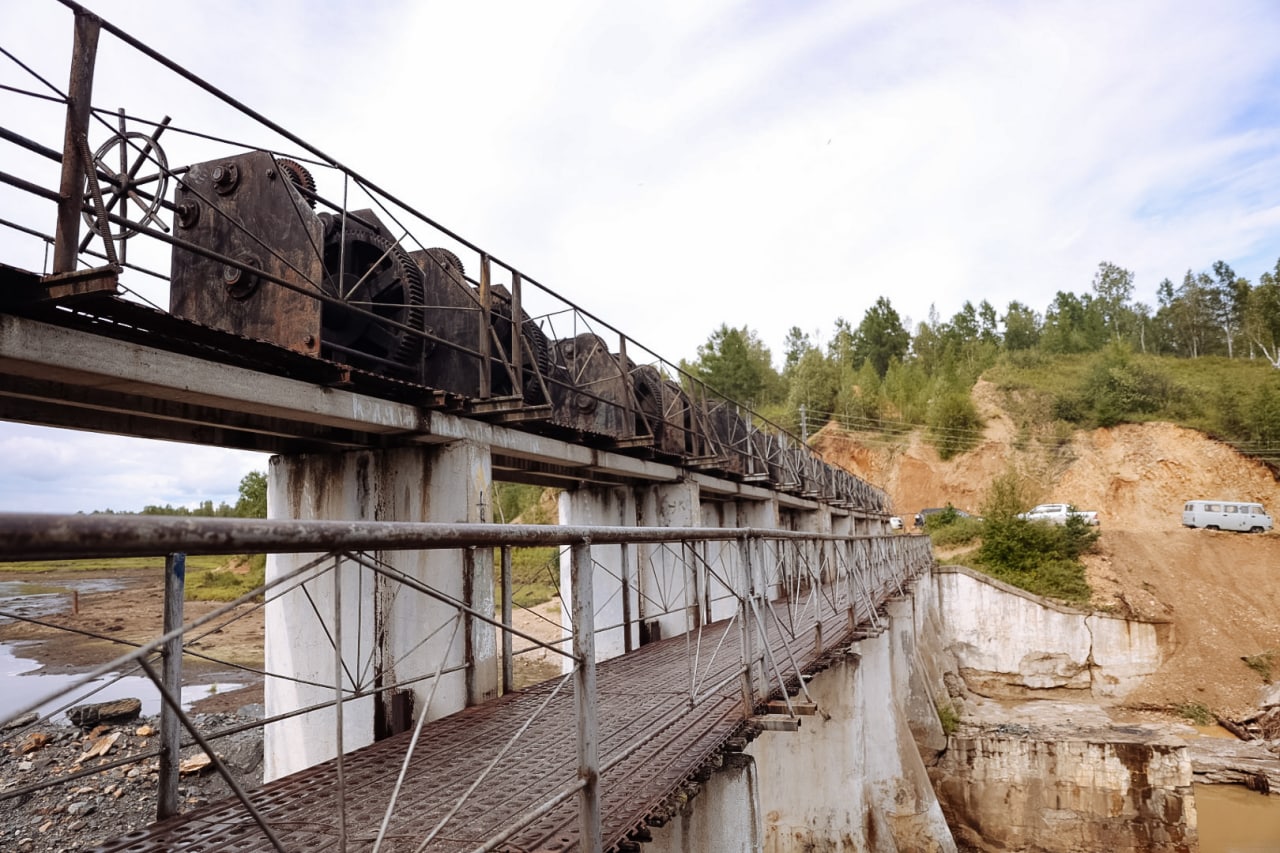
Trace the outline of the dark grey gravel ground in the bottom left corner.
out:
[[[261,719],[260,706],[238,713],[196,715],[202,734]],[[159,758],[147,757],[120,767],[69,779],[119,758],[137,756],[157,744],[159,720],[141,717],[118,725],[82,730],[70,724],[40,724],[0,733],[0,850],[84,850],[145,827],[155,821]],[[119,735],[100,757],[86,758],[95,744]],[[47,739],[44,745],[31,748]],[[239,785],[262,783],[261,729],[219,738],[215,753],[230,767]],[[31,748],[29,752],[23,749]],[[182,751],[183,758],[200,754]],[[37,792],[15,793],[45,781],[60,781]],[[207,767],[180,776],[180,808],[230,797],[223,777]]]

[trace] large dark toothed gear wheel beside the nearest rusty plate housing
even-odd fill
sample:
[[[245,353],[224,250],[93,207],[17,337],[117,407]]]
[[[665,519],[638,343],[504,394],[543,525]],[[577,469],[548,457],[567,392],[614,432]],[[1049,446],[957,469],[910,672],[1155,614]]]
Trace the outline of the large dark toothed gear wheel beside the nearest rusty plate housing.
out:
[[[339,264],[343,266],[338,275]],[[369,356],[372,366],[387,361],[411,368],[422,351],[425,287],[422,270],[399,245],[364,228],[347,227],[346,238],[333,232],[324,247],[326,296],[320,313],[321,343],[340,361]]]

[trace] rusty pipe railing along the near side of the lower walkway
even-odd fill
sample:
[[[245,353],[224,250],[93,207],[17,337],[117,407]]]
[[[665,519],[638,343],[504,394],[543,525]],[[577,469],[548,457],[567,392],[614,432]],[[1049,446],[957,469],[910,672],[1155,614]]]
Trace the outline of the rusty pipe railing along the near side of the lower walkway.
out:
[[[695,543],[726,542],[735,547],[716,549],[716,561],[708,560],[704,549]],[[448,599],[448,596],[430,588],[430,583],[399,573],[383,561],[362,558],[361,551],[378,551],[385,555],[394,551],[420,549],[474,549],[477,547],[499,548],[509,560],[509,548],[516,546],[567,546],[571,552],[571,590],[566,602],[573,616],[573,667],[572,681],[575,725],[577,733],[576,775],[577,781],[547,802],[529,806],[520,818],[527,822],[531,815],[545,815],[566,795],[577,794],[579,808],[576,821],[584,849],[600,849],[600,798],[599,774],[616,766],[627,756],[640,749],[648,738],[632,739],[612,748],[605,754],[596,721],[595,651],[594,637],[604,630],[622,628],[631,630],[626,620],[614,625],[612,619],[598,613],[598,601],[593,580],[595,562],[593,549],[602,546],[649,543],[664,546],[660,558],[663,569],[672,574],[672,583],[680,583],[692,593],[673,594],[664,613],[685,611],[696,620],[690,621],[690,631],[696,629],[701,642],[701,625],[710,615],[700,612],[704,597],[701,590],[710,579],[723,588],[722,599],[736,599],[739,621],[737,631],[732,631],[732,621],[723,635],[717,638],[716,652],[724,640],[739,634],[741,648],[737,660],[717,661],[712,653],[705,671],[700,672],[701,656],[691,651],[686,713],[704,702],[712,694],[741,681],[742,715],[749,716],[759,701],[769,694],[782,692],[786,695],[788,681],[800,680],[801,663],[792,649],[794,642],[804,640],[803,630],[815,634],[820,646],[823,620],[844,620],[847,611],[851,622],[858,619],[874,619],[876,607],[883,599],[902,590],[902,584],[928,565],[928,540],[924,537],[872,537],[872,535],[829,535],[818,533],[771,530],[771,529],[721,529],[721,528],[617,528],[617,526],[531,526],[504,524],[412,524],[412,523],[365,523],[365,521],[294,521],[294,520],[246,520],[246,519],[191,519],[191,517],[151,517],[151,516],[56,516],[28,514],[0,514],[0,553],[10,558],[41,558],[49,556],[147,556],[174,552],[186,553],[324,553],[307,562],[305,567],[276,578],[265,587],[279,585],[285,580],[298,578],[302,583],[314,583],[323,575],[334,578],[335,601],[332,619],[334,633],[334,695],[328,703],[338,707],[352,697],[346,695],[342,686],[346,665],[340,651],[340,598],[337,598],[337,571],[343,562],[352,564],[364,571],[371,571],[419,593],[429,594],[452,606],[457,611],[454,619],[483,619],[495,629],[512,633],[509,611],[503,619],[490,620],[484,613],[475,612],[465,601]],[[596,553],[602,553],[598,551]],[[827,558],[827,555],[831,558]],[[623,567],[623,571],[626,569]],[[305,573],[312,573],[303,576]],[[625,587],[622,579],[607,574],[607,583]],[[695,580],[700,578],[700,580]],[[506,584],[509,587],[509,575]],[[695,587],[695,584],[698,584]],[[676,590],[672,590],[673,593]],[[639,594],[639,593],[637,593]],[[504,593],[509,596],[509,590]],[[787,619],[778,616],[773,599],[785,599],[790,608]],[[713,597],[708,596],[707,599]],[[691,603],[696,599],[696,603]],[[490,602],[492,603],[492,602]],[[224,608],[223,608],[224,610]],[[320,611],[316,611],[320,617]],[[652,610],[649,616],[657,616]],[[323,617],[321,617],[323,619]],[[151,643],[125,656],[128,660],[142,660],[161,643],[182,637],[193,628],[207,622],[207,617],[196,620],[180,629],[166,625],[164,634]],[[602,629],[602,624],[605,626]],[[809,625],[809,629],[804,629]],[[850,624],[852,628],[852,624]],[[692,634],[690,633],[691,638]],[[808,635],[805,635],[808,637]],[[527,638],[526,639],[532,639]],[[780,644],[781,643],[781,644]],[[453,643],[451,640],[449,646]],[[507,657],[506,654],[503,656]],[[124,660],[124,658],[122,658]],[[444,671],[445,657],[431,679],[433,695]],[[113,662],[115,665],[120,661]],[[783,667],[790,663],[790,670]],[[467,661],[463,666],[476,663]],[[148,674],[159,679],[154,670]],[[451,667],[456,669],[456,667]],[[713,686],[707,688],[710,681]],[[165,690],[160,685],[161,692]],[[735,690],[736,692],[736,690]],[[178,716],[183,727],[192,729],[191,720],[175,710],[172,690],[166,704]],[[425,719],[419,719],[419,727]],[[340,717],[339,717],[340,720]],[[340,721],[339,724],[340,725]],[[521,731],[512,736],[518,738]],[[567,734],[567,733],[566,733]],[[198,735],[192,731],[197,739]],[[340,742],[339,742],[340,748]],[[407,761],[407,758],[406,758]],[[495,760],[497,761],[497,760]],[[571,770],[571,768],[564,768]],[[479,780],[477,783],[479,784]],[[474,790],[476,784],[471,785]],[[339,776],[339,786],[342,779]],[[568,792],[568,793],[566,793]],[[466,794],[448,811],[433,833],[439,833],[458,812]],[[393,806],[388,807],[389,809]],[[390,812],[388,811],[388,815]],[[252,815],[252,809],[251,809]],[[252,815],[260,820],[261,815]],[[509,830],[509,831],[508,831]],[[271,830],[264,827],[270,836]],[[498,838],[508,838],[517,831],[515,826],[504,829]],[[430,841],[426,836],[422,847]]]

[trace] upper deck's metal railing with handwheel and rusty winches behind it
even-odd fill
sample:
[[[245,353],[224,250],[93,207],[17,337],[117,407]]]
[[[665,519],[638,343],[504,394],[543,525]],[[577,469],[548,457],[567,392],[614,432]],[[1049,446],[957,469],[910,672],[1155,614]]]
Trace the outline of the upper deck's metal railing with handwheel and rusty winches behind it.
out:
[[[69,74],[33,65],[52,51],[0,35],[0,151],[20,169],[0,170],[0,183],[22,202],[0,213],[0,229],[23,242],[23,263],[0,259],[0,314],[888,512],[882,492],[782,426],[109,20],[63,5]],[[99,55],[100,37],[122,50]],[[95,77],[140,74],[182,78],[197,95],[157,105],[151,87],[134,87],[129,105],[93,102]],[[44,264],[24,260],[40,251]],[[67,425],[65,414],[44,416]],[[284,441],[270,434],[253,441]],[[554,473],[518,474],[563,485]]]

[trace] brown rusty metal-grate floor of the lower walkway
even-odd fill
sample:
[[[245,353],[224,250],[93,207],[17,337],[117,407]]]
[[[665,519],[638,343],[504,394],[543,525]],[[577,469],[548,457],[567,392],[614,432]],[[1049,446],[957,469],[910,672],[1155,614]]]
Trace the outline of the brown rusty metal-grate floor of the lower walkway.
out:
[[[855,602],[847,597],[833,594],[820,608],[828,649],[847,639],[851,606]],[[773,658],[765,657],[763,667],[772,688],[777,688],[774,661],[785,678],[794,679],[796,666],[812,667],[820,657],[813,612],[817,608],[781,602],[774,607],[765,606],[763,611]],[[860,601],[856,616],[859,622],[869,616]],[[759,653],[760,634],[754,629],[753,633],[751,642]],[[713,761],[744,722],[741,680],[733,678],[742,660],[741,634],[735,620],[726,620],[704,626],[700,644],[694,637],[675,637],[598,665],[605,849],[643,825],[672,792]],[[694,648],[700,651],[691,654]],[[691,675],[694,661],[696,676]],[[694,678],[698,698],[690,702]],[[544,681],[429,722],[413,751],[381,849],[475,850],[520,822],[534,806],[576,781],[572,686],[564,685],[548,702],[558,683],[559,679]],[[544,702],[548,702],[545,710],[538,713]],[[498,758],[513,733],[530,720],[509,752]],[[343,808],[346,849],[371,850],[410,734],[347,754],[343,785],[337,762],[330,761],[269,783],[250,798],[287,850],[340,849]],[[489,777],[463,798],[495,760]],[[422,848],[424,839],[454,807],[456,813],[440,834]],[[570,797],[492,849],[575,850],[577,847],[577,800]],[[131,833],[95,848],[95,853],[271,849],[252,817],[229,799]]]

